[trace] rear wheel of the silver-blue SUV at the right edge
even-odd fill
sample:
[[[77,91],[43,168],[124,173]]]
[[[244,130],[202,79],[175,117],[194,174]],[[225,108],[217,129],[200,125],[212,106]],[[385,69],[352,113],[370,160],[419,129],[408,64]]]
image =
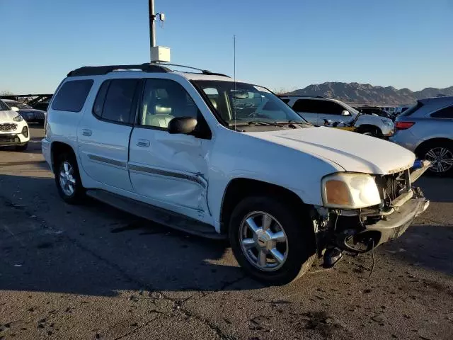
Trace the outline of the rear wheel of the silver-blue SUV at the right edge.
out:
[[[447,176],[453,174],[453,142],[436,142],[423,146],[418,152],[422,159],[431,162],[428,174]]]

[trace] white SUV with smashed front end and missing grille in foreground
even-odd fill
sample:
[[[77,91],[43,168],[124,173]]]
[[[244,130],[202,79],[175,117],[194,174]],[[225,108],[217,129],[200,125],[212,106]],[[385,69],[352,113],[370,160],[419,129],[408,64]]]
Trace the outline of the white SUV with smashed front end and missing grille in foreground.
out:
[[[268,89],[169,64],[81,67],[47,111],[42,153],[67,203],[91,196],[229,237],[252,276],[287,283],[324,249],[369,251],[428,206],[398,145],[301,118]],[[396,213],[398,211],[398,213]]]

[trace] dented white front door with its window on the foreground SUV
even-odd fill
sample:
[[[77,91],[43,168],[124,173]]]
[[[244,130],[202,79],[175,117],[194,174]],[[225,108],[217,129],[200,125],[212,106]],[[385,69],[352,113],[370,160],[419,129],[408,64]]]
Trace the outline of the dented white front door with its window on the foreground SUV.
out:
[[[130,137],[128,168],[134,192],[149,203],[200,219],[209,215],[206,174],[212,141],[167,131],[171,119],[198,114],[181,84],[147,79]]]

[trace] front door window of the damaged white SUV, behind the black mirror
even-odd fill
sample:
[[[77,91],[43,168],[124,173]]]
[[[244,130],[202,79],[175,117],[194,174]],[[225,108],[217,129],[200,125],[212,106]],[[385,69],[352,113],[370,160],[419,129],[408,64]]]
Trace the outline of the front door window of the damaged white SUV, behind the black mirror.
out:
[[[197,115],[198,108],[183,86],[169,79],[147,79],[139,125],[167,130],[173,118],[197,118]]]

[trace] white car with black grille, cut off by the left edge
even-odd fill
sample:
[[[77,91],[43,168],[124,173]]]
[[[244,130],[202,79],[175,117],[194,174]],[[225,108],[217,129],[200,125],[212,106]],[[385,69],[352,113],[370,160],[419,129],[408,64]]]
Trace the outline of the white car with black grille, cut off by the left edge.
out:
[[[16,150],[25,151],[29,140],[27,122],[0,100],[0,147],[15,146]]]

